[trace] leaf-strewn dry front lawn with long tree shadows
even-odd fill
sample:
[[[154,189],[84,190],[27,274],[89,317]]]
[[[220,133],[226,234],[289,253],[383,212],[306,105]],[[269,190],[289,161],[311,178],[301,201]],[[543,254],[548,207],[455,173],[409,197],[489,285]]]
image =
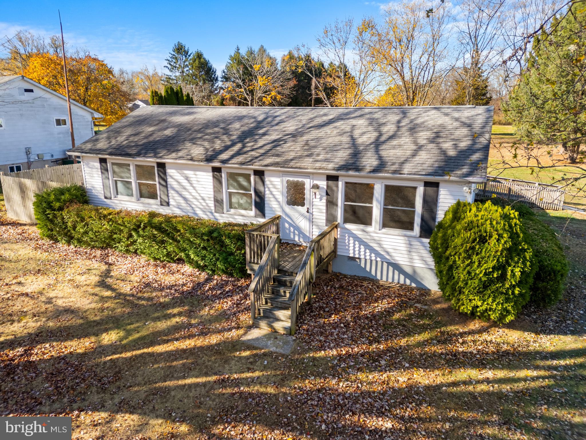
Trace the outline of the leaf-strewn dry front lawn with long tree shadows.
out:
[[[282,356],[240,341],[248,280],[0,216],[0,415],[71,415],[94,440],[584,439],[585,236],[580,214],[560,235],[564,300],[506,327],[435,292],[324,276]]]

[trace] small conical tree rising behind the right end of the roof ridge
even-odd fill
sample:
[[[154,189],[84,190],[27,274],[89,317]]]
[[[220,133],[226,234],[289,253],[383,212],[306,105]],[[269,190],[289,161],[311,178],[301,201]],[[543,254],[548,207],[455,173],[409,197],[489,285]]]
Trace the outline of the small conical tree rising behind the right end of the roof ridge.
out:
[[[488,76],[479,65],[478,56],[474,56],[470,66],[465,66],[455,80],[456,90],[452,106],[488,106],[492,96],[488,91]]]

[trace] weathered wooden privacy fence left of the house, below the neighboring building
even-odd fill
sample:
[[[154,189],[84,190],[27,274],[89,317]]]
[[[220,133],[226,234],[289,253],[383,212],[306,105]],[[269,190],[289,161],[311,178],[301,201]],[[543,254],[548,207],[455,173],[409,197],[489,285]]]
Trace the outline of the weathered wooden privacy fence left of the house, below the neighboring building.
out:
[[[83,185],[83,174],[81,164],[58,165],[39,170],[0,173],[0,183],[4,192],[6,214],[16,220],[36,223],[33,211],[35,194],[47,188]]]

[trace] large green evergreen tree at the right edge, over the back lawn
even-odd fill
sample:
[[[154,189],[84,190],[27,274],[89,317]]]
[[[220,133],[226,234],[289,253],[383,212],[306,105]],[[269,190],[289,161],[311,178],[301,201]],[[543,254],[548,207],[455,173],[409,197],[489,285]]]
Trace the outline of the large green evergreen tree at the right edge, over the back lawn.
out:
[[[569,7],[534,38],[527,68],[503,110],[523,140],[560,143],[576,163],[586,144],[586,8]]]

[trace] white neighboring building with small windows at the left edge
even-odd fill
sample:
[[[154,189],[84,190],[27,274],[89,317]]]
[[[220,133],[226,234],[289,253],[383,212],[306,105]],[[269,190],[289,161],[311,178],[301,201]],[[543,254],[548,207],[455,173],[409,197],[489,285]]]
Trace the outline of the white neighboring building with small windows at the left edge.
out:
[[[73,100],[71,113],[78,145],[103,116]],[[0,76],[0,171],[59,165],[70,149],[66,97],[25,76]]]

